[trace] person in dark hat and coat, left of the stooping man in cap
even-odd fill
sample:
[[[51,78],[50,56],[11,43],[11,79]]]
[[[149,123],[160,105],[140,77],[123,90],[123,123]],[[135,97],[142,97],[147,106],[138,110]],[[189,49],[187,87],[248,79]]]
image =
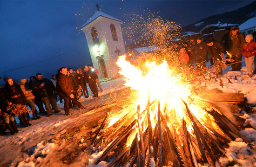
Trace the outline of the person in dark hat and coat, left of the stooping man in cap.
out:
[[[207,49],[206,49],[206,44],[202,42],[202,38],[199,37],[196,39],[196,44],[194,46],[194,55],[193,58],[195,60],[195,63],[201,64],[205,67],[205,60],[207,56]]]

